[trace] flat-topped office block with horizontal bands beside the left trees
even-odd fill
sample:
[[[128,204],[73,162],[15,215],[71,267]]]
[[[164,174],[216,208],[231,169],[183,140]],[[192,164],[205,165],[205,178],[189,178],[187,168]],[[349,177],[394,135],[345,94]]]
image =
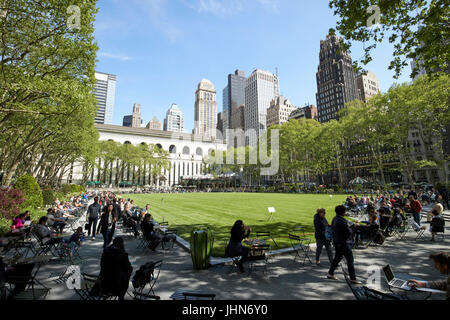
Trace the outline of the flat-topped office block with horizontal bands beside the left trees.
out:
[[[117,77],[112,74],[96,72],[94,95],[97,98],[97,116],[95,123],[112,124]]]

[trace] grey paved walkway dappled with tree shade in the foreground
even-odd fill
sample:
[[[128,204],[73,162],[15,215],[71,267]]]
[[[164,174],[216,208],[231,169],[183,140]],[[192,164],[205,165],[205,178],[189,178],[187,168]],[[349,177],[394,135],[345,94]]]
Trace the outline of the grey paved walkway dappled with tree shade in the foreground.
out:
[[[84,225],[82,220],[80,225]],[[447,225],[446,234],[448,233],[450,233],[450,226]],[[427,280],[443,279],[443,276],[434,269],[428,256],[431,252],[448,251],[449,240],[431,242],[428,230],[425,233],[425,240],[415,241],[414,238],[414,232],[410,231],[405,240],[389,238],[382,247],[354,251],[358,278],[365,281],[369,267],[381,267],[389,263],[396,273],[407,273]],[[98,274],[102,244],[100,235],[95,241],[87,240],[80,248],[80,254],[86,258],[82,272]],[[217,265],[209,270],[194,271],[190,254],[178,245],[169,252],[161,251],[159,254],[148,251],[144,254],[136,249],[137,245],[137,240],[130,237],[126,239],[125,248],[129,253],[134,271],[148,261],[164,260],[155,286],[155,292],[161,299],[169,299],[171,294],[179,288],[210,291],[216,293],[219,300],[353,299],[340,270],[336,273],[339,281],[326,279],[329,262],[325,252],[322,253],[322,265],[319,267],[309,263],[305,266],[299,262],[293,263],[291,254],[272,257],[269,265],[270,272],[264,275],[260,271],[241,274],[235,267],[229,265]],[[312,250],[315,251],[314,246]],[[313,256],[312,254],[311,260],[314,261]],[[53,281],[55,278],[50,278],[52,273],[62,271],[64,268],[57,264],[42,267],[38,278],[44,279],[44,283],[52,288],[47,299],[78,299],[73,290],[67,289],[65,284],[56,284]],[[131,290],[130,283],[129,291]],[[420,294],[415,298],[423,297],[424,295]],[[443,294],[432,296],[432,299],[444,298]],[[130,297],[128,296],[127,299]]]

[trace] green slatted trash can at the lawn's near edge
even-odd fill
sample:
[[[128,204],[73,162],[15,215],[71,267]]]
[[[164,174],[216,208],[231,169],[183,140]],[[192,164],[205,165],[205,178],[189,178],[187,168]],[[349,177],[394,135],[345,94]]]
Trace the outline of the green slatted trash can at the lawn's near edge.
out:
[[[195,270],[205,270],[209,267],[214,239],[209,229],[192,230],[191,257]]]

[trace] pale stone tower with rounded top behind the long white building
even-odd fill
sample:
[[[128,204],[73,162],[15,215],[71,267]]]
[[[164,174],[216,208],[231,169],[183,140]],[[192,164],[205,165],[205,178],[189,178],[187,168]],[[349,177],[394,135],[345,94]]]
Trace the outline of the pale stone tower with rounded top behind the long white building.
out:
[[[214,84],[203,79],[195,92],[194,134],[216,138],[217,101]]]

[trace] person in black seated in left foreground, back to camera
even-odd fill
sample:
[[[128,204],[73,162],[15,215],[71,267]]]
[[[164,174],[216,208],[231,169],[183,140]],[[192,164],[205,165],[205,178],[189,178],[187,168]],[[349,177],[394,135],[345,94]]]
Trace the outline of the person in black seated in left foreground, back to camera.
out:
[[[123,238],[117,237],[102,254],[99,277],[102,293],[123,300],[132,272],[133,267],[125,251]]]

